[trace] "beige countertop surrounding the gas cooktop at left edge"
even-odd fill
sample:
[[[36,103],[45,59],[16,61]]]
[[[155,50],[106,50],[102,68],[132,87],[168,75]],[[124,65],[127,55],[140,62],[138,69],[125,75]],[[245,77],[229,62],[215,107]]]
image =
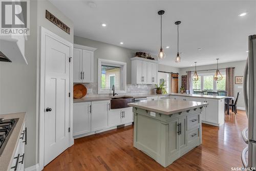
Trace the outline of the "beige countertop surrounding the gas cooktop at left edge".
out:
[[[26,113],[14,113],[14,114],[5,114],[0,115],[0,118],[4,119],[13,119],[19,118],[16,123],[14,130],[8,140],[8,143],[5,146],[3,154],[0,156],[0,170],[10,170],[12,160],[15,157],[14,153],[16,151],[20,134],[22,133],[23,125],[25,123]]]

